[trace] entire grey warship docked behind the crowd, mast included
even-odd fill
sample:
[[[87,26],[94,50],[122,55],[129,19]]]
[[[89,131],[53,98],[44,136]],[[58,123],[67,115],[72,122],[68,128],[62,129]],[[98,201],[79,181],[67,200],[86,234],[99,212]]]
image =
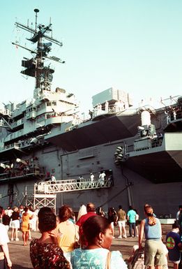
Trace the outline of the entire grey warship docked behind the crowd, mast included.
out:
[[[22,59],[23,75],[36,80],[31,101],[0,108],[0,203],[49,206],[74,211],[129,205],[142,214],[144,203],[161,219],[175,217],[182,193],[182,96],[135,108],[130,94],[110,87],[92,97],[89,118],[79,116],[75,94],[52,89],[52,24],[15,22],[35,46]]]

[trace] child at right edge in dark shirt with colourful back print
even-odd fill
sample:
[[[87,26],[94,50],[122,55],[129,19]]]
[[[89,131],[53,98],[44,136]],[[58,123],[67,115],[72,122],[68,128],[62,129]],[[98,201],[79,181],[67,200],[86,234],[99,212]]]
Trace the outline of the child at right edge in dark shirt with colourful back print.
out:
[[[169,261],[172,261],[172,263],[174,263],[174,269],[178,269],[181,259],[181,238],[179,235],[178,224],[172,224],[172,231],[167,233],[166,236],[166,245],[169,251]]]

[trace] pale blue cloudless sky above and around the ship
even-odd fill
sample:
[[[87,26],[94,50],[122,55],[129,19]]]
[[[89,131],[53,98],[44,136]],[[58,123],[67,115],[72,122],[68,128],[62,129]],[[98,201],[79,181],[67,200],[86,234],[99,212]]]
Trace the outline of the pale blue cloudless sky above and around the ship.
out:
[[[33,96],[34,80],[20,74],[29,52],[11,45],[29,34],[17,20],[49,24],[63,47],[52,50],[66,64],[54,64],[52,89],[73,92],[84,110],[91,96],[109,87],[123,89],[135,103],[182,94],[181,0],[6,0],[1,3],[1,102]],[[16,19],[17,18],[17,19]]]

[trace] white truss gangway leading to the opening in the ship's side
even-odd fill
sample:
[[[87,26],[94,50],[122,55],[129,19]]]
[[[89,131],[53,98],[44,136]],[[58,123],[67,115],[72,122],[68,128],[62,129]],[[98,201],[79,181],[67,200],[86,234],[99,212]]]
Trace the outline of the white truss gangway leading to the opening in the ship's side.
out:
[[[56,194],[66,191],[83,191],[87,189],[102,189],[112,187],[111,180],[57,180],[56,182],[47,181],[35,184],[35,194],[43,192],[45,194]]]

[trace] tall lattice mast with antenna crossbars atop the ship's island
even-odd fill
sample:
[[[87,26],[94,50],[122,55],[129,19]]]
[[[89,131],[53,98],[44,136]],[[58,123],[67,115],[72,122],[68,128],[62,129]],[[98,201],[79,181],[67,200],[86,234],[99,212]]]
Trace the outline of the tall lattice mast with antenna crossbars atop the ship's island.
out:
[[[36,89],[34,90],[33,95],[33,97],[36,98],[39,94],[42,94],[43,91],[51,90],[51,82],[53,78],[52,73],[54,73],[54,69],[50,68],[50,66],[44,65],[45,58],[57,61],[61,64],[65,63],[65,61],[61,61],[61,59],[54,56],[48,57],[48,54],[51,51],[52,43],[54,43],[55,45],[59,45],[60,47],[63,44],[60,41],[57,41],[56,39],[52,38],[51,36],[46,35],[47,32],[52,31],[52,24],[50,23],[47,27],[45,27],[45,25],[43,24],[38,24],[39,10],[36,8],[34,9],[34,12],[36,13],[35,30],[30,28],[28,25],[26,26],[19,22],[15,22],[15,25],[20,29],[29,31],[31,34],[33,34],[33,36],[31,38],[27,38],[27,40],[31,41],[32,43],[37,43],[36,50],[31,50],[18,43],[13,43],[13,45],[19,46],[20,48],[24,48],[32,54],[35,54],[35,56],[31,59],[24,58],[22,60],[22,66],[25,69],[21,71],[21,73],[36,78]],[[50,42],[45,43],[43,41],[44,39]]]

